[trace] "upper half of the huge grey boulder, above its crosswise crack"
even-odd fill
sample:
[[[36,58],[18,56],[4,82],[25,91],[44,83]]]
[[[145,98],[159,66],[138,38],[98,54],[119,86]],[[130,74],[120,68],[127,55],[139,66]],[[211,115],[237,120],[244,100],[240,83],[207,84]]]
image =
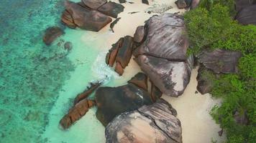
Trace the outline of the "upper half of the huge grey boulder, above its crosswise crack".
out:
[[[184,21],[178,14],[152,16],[147,20],[147,38],[134,51],[135,56],[147,54],[173,61],[185,61],[188,38]]]

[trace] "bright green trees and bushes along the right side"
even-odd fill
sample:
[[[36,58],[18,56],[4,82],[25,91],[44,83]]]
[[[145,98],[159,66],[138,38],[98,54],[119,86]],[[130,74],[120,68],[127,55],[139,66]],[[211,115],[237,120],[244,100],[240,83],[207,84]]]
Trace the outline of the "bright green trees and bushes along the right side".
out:
[[[192,49],[241,51],[239,73],[213,79],[213,97],[222,99],[211,115],[227,132],[228,143],[256,141],[256,26],[242,26],[233,20],[234,0],[203,0],[184,18]],[[207,77],[215,77],[211,72]],[[240,121],[238,121],[240,119]]]

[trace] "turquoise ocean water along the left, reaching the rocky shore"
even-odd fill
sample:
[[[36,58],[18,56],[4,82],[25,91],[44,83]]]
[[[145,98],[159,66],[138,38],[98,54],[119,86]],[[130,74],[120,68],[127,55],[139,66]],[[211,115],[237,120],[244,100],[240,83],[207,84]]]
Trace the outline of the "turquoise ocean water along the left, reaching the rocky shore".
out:
[[[88,82],[105,79],[115,86],[127,79],[114,82],[120,77],[104,64],[104,41],[60,23],[63,7],[63,0],[0,2],[1,143],[104,142],[96,108],[67,131],[58,122]],[[65,35],[45,46],[42,35],[49,26],[62,27]],[[65,51],[61,41],[73,49]]]

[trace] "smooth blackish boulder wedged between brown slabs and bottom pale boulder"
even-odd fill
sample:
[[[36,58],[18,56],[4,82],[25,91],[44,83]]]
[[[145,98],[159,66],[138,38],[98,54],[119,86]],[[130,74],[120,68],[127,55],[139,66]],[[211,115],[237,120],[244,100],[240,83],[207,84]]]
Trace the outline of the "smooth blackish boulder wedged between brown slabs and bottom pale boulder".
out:
[[[100,87],[95,94],[98,110],[96,117],[106,126],[116,115],[152,104],[144,89],[127,84],[122,87]]]

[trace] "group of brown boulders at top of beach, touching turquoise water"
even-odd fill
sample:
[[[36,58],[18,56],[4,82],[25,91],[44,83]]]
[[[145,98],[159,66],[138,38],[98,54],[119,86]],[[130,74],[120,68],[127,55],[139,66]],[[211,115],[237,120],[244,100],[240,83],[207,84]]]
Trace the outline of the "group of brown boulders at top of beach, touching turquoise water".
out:
[[[64,24],[70,28],[79,27],[90,31],[99,31],[118,14],[124,11],[124,6],[106,0],[82,0],[75,3],[65,1],[65,11],[61,16]]]

